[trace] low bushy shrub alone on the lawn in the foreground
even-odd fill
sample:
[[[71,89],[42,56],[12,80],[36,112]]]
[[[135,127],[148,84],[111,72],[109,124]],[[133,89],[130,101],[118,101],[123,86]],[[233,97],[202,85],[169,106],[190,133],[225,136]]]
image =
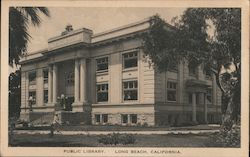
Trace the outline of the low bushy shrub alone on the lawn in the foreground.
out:
[[[99,143],[103,143],[105,145],[117,145],[117,144],[134,144],[135,137],[132,134],[119,134],[119,133],[112,133],[108,135],[102,135],[98,139]]]

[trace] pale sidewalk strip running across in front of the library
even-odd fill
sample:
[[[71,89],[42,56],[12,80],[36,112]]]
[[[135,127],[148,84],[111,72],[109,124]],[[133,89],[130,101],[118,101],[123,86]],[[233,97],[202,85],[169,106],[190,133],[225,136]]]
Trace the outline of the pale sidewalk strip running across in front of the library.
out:
[[[216,133],[216,130],[171,130],[171,131],[60,131],[54,134],[62,135],[107,135],[112,133],[120,134],[138,134],[138,135],[166,135],[166,134],[201,134]],[[49,130],[15,130],[14,134],[49,134]]]

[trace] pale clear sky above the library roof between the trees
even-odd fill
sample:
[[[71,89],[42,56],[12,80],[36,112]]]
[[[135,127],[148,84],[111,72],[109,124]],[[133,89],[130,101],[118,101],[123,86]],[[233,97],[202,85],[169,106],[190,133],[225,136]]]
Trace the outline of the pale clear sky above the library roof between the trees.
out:
[[[185,8],[90,8],[90,7],[49,7],[51,16],[40,15],[39,27],[29,26],[31,35],[28,54],[48,47],[48,39],[60,35],[67,24],[73,29],[88,28],[94,34],[143,20],[155,14],[167,22],[183,13]]]

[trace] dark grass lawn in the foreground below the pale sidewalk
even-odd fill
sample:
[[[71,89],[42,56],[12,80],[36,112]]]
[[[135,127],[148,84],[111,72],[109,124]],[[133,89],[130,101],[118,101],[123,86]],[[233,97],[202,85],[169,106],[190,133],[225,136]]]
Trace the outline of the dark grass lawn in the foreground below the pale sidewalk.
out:
[[[187,135],[135,135],[135,143],[116,147],[218,147],[210,134]],[[18,134],[10,146],[18,147],[114,147],[98,142],[99,135]]]

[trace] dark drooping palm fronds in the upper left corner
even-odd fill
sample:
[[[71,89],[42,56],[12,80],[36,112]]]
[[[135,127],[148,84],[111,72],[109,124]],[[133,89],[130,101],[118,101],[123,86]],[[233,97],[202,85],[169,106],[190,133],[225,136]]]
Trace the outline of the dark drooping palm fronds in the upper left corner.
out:
[[[27,50],[27,43],[31,36],[28,27],[41,24],[39,13],[50,17],[46,7],[10,7],[9,8],[9,65],[19,63],[20,57]]]

